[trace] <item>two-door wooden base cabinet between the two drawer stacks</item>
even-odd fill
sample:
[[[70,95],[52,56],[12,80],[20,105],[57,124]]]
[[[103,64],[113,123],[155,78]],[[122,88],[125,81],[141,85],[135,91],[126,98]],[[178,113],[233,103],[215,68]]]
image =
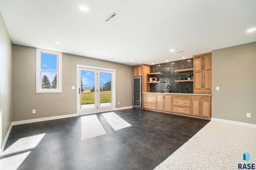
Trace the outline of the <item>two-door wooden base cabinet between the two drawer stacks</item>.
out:
[[[171,111],[171,95],[156,94],[156,109],[160,111]]]

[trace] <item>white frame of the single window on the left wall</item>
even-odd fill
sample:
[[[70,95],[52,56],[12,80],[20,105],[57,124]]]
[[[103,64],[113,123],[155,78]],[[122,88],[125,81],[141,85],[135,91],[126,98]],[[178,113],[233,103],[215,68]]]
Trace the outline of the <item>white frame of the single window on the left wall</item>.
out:
[[[41,88],[41,53],[56,55],[57,88]],[[43,70],[45,71],[45,70]],[[50,72],[50,71],[49,71]],[[36,49],[36,93],[62,93],[62,53],[45,49]]]

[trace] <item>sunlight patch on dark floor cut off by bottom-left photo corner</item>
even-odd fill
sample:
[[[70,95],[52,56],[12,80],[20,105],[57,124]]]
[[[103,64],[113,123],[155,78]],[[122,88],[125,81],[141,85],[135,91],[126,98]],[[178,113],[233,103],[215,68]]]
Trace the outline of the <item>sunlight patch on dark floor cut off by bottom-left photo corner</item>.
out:
[[[18,169],[19,166],[22,164],[22,162],[26,159],[28,154],[30,154],[30,151],[0,159],[0,169],[1,170],[16,170],[16,169]]]

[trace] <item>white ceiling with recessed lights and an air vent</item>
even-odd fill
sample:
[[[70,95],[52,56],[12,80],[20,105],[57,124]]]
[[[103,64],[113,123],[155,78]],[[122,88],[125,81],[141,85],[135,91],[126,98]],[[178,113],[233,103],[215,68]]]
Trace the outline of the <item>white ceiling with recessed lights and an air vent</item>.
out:
[[[256,41],[246,32],[255,9],[256,0],[0,0],[12,43],[129,65]]]

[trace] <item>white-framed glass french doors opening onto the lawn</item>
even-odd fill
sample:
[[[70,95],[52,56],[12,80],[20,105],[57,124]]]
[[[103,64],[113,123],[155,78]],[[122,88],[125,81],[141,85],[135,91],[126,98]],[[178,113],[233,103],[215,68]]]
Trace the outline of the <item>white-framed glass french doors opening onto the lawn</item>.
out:
[[[114,110],[114,70],[78,66],[79,115]]]

